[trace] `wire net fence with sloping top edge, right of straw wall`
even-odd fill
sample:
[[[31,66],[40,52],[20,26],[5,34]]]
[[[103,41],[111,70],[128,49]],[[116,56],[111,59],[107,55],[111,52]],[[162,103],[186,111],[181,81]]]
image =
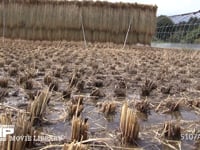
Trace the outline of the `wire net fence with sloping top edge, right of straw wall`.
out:
[[[200,44],[200,10],[157,18],[154,41]]]

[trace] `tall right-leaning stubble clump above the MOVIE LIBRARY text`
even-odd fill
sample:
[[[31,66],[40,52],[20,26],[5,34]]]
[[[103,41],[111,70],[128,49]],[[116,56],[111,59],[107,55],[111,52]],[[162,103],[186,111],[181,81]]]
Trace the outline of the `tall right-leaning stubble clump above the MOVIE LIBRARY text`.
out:
[[[41,93],[35,97],[30,108],[30,119],[32,125],[36,125],[41,122],[49,100],[49,89],[41,91]]]

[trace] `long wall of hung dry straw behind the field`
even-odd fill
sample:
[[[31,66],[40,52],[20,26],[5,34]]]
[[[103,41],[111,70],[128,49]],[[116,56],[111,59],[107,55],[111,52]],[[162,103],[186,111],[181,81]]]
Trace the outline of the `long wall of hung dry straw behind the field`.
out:
[[[0,8],[0,16],[6,18],[6,37],[80,41],[84,27],[86,41],[123,43],[132,22],[129,44],[150,43],[157,10],[156,6],[136,3],[26,0],[7,1],[4,8],[0,3]]]

